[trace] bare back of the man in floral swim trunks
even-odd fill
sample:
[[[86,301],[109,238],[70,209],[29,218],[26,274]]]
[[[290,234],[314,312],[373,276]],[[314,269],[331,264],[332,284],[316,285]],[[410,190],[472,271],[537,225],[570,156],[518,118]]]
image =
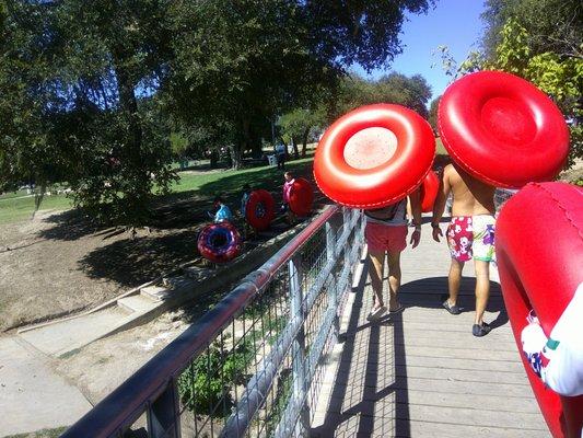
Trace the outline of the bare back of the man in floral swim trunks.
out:
[[[444,184],[448,184],[454,198],[452,216],[493,215],[495,212],[495,187],[476,180],[453,164],[445,166],[443,180]]]

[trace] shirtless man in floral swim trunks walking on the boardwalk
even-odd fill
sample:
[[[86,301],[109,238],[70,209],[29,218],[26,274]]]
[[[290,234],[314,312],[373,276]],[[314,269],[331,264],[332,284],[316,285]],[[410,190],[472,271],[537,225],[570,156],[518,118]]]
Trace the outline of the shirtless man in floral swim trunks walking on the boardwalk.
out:
[[[456,164],[447,164],[438,199],[433,207],[433,239],[439,242],[443,233],[440,220],[445,200],[453,194],[452,221],[447,227],[447,244],[452,255],[448,275],[450,298],[443,307],[459,314],[457,295],[464,264],[474,257],[476,268],[476,319],[471,332],[483,336],[490,326],[483,322],[483,312],[490,295],[490,262],[494,257],[494,187],[468,175]]]

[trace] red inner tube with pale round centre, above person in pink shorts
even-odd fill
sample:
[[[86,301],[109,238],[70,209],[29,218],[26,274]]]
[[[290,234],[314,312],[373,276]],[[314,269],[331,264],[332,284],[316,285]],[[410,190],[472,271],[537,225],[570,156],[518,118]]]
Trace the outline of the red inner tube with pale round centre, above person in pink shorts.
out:
[[[433,131],[419,114],[400,105],[368,105],[326,130],[314,157],[314,177],[339,204],[381,208],[415,191],[434,154]]]

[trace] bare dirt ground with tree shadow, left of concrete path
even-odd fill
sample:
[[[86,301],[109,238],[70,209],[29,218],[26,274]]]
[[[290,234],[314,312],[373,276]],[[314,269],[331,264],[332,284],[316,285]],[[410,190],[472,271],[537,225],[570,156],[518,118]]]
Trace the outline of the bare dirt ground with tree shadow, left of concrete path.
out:
[[[0,227],[0,331],[106,301],[196,256],[197,228],[94,230],[71,212]]]

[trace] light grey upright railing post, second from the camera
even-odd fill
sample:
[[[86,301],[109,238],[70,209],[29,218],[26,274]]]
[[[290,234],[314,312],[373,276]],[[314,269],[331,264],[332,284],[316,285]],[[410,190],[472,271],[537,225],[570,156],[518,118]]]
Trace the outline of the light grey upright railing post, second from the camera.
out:
[[[290,313],[292,318],[298,318],[302,321],[302,326],[295,336],[292,346],[292,367],[293,367],[293,399],[295,401],[304,401],[307,391],[306,388],[306,372],[305,372],[305,311],[304,311],[304,293],[302,287],[302,255],[298,253],[292,260],[288,262],[288,270],[290,276]],[[310,430],[310,412],[307,405],[302,403],[300,408],[300,422],[295,427],[295,436],[305,437]]]

